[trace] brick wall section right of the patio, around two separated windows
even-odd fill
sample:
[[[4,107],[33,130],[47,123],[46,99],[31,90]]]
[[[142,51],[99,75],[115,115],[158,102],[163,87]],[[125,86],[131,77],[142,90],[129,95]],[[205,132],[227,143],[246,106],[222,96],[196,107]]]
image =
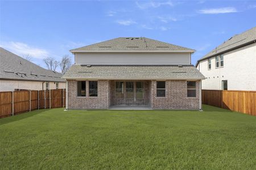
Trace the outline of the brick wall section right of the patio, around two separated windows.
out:
[[[166,97],[156,97],[156,81],[151,82],[153,109],[200,109],[200,81],[196,82],[196,97],[187,97],[186,80],[167,80]]]

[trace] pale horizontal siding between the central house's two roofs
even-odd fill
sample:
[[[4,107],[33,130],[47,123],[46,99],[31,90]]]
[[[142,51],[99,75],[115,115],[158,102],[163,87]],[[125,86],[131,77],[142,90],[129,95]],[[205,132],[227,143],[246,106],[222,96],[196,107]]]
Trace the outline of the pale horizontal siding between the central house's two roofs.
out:
[[[190,65],[190,53],[76,53],[78,65]]]

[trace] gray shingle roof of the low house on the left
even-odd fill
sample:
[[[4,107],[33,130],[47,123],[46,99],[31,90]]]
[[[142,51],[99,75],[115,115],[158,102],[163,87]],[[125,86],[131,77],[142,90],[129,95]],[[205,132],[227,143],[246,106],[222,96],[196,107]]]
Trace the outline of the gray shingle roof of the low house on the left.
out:
[[[0,79],[65,82],[62,74],[43,69],[26,59],[0,48]]]

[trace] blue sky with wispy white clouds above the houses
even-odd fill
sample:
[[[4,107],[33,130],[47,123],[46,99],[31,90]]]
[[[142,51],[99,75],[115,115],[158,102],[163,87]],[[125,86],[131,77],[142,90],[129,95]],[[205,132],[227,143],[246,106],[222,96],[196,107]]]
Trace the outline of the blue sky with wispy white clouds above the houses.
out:
[[[60,59],[115,37],[149,37],[197,50],[192,63],[256,26],[256,1],[0,1],[0,46]]]

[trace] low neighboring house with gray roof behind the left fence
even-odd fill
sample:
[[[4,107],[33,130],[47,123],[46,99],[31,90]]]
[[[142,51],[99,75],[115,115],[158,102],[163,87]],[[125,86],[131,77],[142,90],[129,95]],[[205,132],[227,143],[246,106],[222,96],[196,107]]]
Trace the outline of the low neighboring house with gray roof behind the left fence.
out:
[[[0,91],[65,88],[61,76],[0,48]]]

